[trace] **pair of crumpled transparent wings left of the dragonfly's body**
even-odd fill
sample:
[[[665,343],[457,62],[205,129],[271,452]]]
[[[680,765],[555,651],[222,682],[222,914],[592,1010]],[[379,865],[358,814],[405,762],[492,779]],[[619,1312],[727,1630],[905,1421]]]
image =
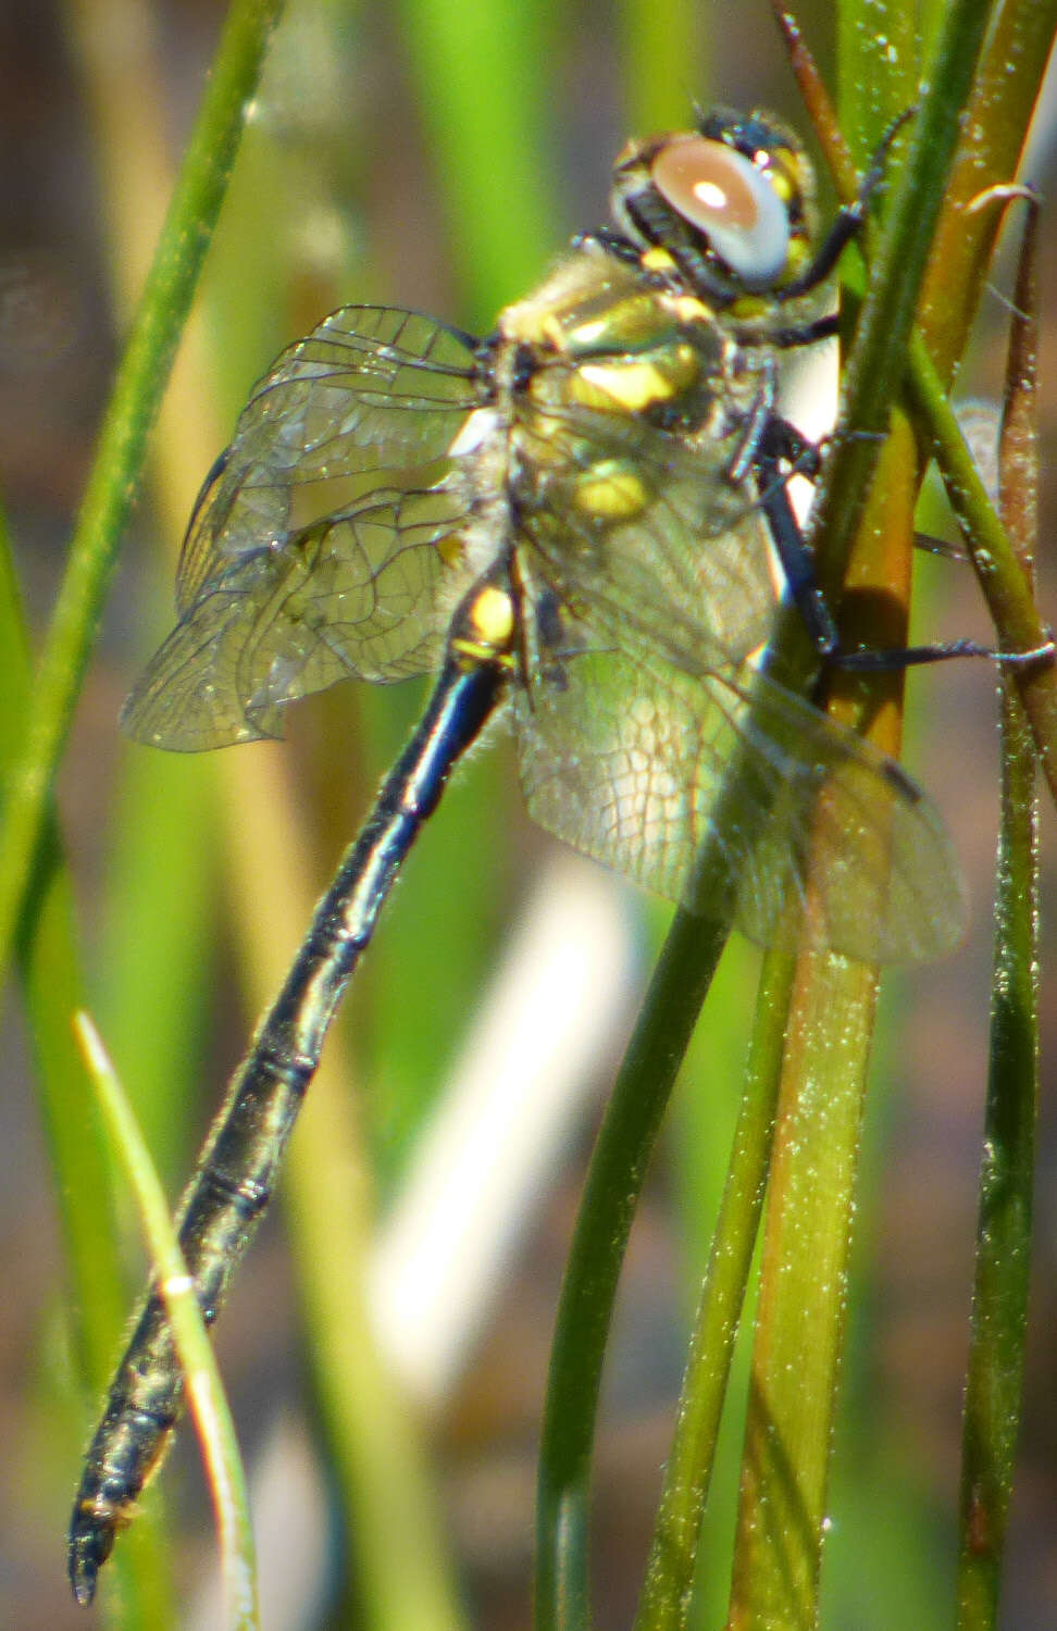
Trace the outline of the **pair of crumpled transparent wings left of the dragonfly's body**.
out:
[[[124,729],[170,749],[281,734],[281,708],[439,654],[445,453],[483,385],[473,341],[414,312],[346,307],[256,387],[191,517],[179,621]],[[447,602],[445,602],[447,603]]]

